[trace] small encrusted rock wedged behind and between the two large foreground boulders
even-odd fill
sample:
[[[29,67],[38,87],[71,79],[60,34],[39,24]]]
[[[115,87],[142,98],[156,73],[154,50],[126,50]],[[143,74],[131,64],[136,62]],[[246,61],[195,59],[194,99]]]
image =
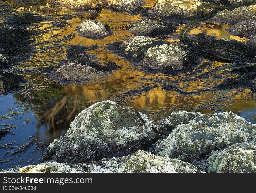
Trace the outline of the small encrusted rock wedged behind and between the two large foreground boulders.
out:
[[[174,128],[180,124],[187,124],[202,114],[199,112],[178,111],[172,112],[166,119],[161,119],[154,123],[154,130],[162,135],[168,136]]]

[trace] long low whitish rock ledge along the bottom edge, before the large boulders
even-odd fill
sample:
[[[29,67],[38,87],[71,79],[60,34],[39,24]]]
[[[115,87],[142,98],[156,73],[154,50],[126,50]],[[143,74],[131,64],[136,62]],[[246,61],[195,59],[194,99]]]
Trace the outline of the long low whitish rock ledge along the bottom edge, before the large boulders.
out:
[[[0,170],[1,172],[1,170]],[[201,172],[190,163],[170,159],[163,156],[156,156],[151,152],[136,151],[132,155],[102,159],[93,163],[67,164],[54,162],[45,162],[38,165],[29,165],[25,167],[16,167],[2,172],[104,172],[104,173],[192,173]]]

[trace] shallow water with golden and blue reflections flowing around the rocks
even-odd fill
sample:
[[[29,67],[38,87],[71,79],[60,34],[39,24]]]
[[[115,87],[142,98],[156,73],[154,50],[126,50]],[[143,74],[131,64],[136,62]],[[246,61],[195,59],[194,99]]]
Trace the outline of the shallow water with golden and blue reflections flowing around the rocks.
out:
[[[0,168],[39,163],[47,144],[64,135],[81,110],[101,100],[112,100],[140,111],[144,110],[156,120],[167,117],[173,111],[186,110],[203,113],[233,111],[252,123],[256,122],[256,100],[250,90],[221,90],[214,87],[226,76],[232,76],[225,71],[228,63],[202,60],[192,72],[147,72],[107,50],[105,46],[109,43],[134,37],[129,30],[120,29],[118,26],[144,18],[141,14],[132,15],[105,8],[95,13],[46,3],[22,4],[20,1],[1,1],[0,5],[9,5],[12,11],[21,7],[29,8],[32,13],[45,19],[40,23],[23,26],[37,32],[34,35],[37,41],[31,45],[31,57],[19,61],[10,69],[22,75],[28,82],[17,92],[0,96],[0,124],[16,127],[12,129],[14,134],[7,134],[0,141],[0,145],[7,147],[0,148]],[[145,6],[153,5],[154,1],[148,0]],[[11,19],[12,14],[7,12],[2,16],[1,23]],[[71,25],[63,29],[53,28],[53,21],[61,18],[68,19]],[[75,29],[88,18],[111,26],[113,34],[102,40],[79,36]],[[206,32],[208,35],[217,36],[217,39],[246,42],[246,38],[230,35],[226,31],[227,27],[227,24],[202,22],[193,27],[190,34]],[[179,44],[178,34],[183,28],[184,22],[166,41]],[[75,37],[67,38],[70,33],[75,33]],[[71,45],[79,44],[97,44],[98,49],[88,52],[95,55],[96,61],[103,64],[109,60],[114,61],[122,65],[122,68],[81,85],[60,85],[44,76],[42,67],[58,65],[66,58],[66,50]],[[7,126],[1,125],[1,128],[5,127]],[[6,145],[8,143],[10,144]]]

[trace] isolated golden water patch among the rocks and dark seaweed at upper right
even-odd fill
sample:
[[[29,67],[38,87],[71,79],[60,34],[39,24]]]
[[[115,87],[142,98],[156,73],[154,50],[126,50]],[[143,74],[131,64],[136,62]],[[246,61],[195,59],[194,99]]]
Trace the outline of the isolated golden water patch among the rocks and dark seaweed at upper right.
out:
[[[195,26],[189,34],[200,34],[202,32],[207,32],[207,35],[217,36],[217,39],[235,39],[238,41],[247,41],[245,37],[233,36],[227,32],[229,24],[220,24],[220,23],[208,23],[202,22],[202,27]]]

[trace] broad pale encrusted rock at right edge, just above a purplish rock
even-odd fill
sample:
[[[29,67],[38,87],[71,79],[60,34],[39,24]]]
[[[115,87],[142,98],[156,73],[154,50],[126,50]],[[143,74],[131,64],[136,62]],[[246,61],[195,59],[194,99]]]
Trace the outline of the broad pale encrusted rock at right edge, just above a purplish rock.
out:
[[[214,21],[220,23],[240,22],[246,19],[256,19],[256,5],[241,6],[233,10],[219,11],[214,17]]]

